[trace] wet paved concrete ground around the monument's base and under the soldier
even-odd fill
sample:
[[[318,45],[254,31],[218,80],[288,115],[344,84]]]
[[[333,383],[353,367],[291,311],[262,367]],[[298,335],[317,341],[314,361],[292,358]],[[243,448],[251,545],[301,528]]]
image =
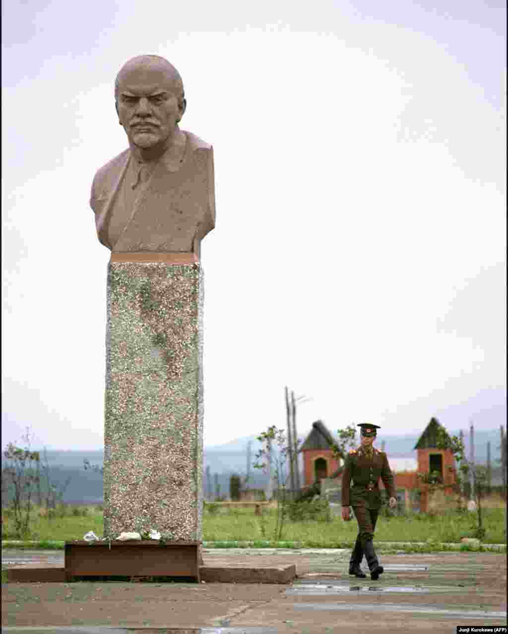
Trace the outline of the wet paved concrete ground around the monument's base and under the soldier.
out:
[[[505,555],[434,553],[380,559],[386,573],[379,581],[349,577],[345,550],[263,548],[204,550],[204,563],[294,563],[298,578],[292,585],[7,583],[2,588],[3,630],[455,633],[458,624],[506,624]],[[37,561],[39,566],[63,566],[63,551],[3,552],[4,568]],[[50,629],[41,630],[44,626]]]

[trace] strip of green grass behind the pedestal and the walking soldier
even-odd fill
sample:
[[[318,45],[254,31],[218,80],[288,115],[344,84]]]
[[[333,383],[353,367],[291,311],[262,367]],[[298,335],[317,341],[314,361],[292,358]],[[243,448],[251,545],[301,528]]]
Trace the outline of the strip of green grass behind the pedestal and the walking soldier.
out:
[[[504,505],[502,501],[486,505],[483,524],[486,529],[484,543],[504,543]],[[79,514],[81,513],[81,515]],[[34,513],[31,534],[27,540],[78,540],[88,531],[98,536],[103,534],[103,515],[100,507],[66,507],[60,509],[62,517],[48,519],[39,512]],[[64,515],[65,514],[65,515]],[[85,515],[83,515],[85,514]],[[15,540],[10,514],[4,512],[3,540]],[[254,510],[230,509],[223,513],[204,512],[203,540],[205,541],[261,541],[271,540],[275,528],[276,511],[264,510],[263,517],[254,515]],[[402,515],[383,517],[380,515],[375,530],[375,541],[436,541],[459,542],[464,536],[472,536],[476,514],[458,514],[443,510],[436,515]],[[334,548],[353,543],[358,527],[356,521],[285,522],[282,539],[299,541],[308,547]]]

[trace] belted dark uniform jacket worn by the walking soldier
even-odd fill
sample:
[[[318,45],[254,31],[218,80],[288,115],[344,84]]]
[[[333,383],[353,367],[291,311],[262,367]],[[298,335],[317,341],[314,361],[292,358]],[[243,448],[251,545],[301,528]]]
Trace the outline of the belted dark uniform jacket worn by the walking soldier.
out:
[[[393,474],[386,453],[372,448],[369,458],[361,447],[349,451],[342,471],[342,506],[381,508],[380,477],[388,497],[394,497]]]

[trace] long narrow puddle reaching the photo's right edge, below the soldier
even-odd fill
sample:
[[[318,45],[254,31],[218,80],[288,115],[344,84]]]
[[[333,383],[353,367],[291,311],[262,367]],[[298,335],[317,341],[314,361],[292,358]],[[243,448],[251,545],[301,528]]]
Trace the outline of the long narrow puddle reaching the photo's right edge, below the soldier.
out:
[[[408,614],[429,614],[429,616],[441,616],[450,618],[467,619],[506,619],[506,612],[491,612],[487,610],[446,610],[432,605],[400,605],[386,603],[376,604],[351,604],[351,603],[294,603],[295,610],[313,611],[348,611],[348,612],[407,612]]]

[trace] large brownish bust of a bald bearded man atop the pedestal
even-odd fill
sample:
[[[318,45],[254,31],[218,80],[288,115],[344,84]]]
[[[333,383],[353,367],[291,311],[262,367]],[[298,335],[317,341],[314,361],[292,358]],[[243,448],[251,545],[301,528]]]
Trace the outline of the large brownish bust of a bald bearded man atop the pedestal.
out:
[[[127,61],[115,107],[129,148],[101,167],[90,205],[100,242],[114,254],[189,253],[215,225],[212,146],[179,128],[186,101],[162,57]]]

